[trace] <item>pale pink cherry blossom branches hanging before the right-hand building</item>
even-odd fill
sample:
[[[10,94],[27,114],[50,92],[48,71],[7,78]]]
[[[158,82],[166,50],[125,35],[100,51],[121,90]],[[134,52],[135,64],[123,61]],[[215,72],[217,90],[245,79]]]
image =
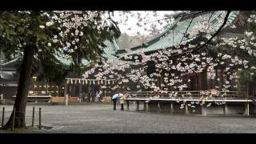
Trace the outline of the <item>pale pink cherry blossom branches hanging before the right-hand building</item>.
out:
[[[144,52],[143,45],[141,50],[137,50],[136,53],[126,55],[122,54],[119,59],[126,62],[120,63],[120,65],[111,65],[107,63],[105,65],[98,65],[92,70],[86,71],[83,75],[87,78],[89,75],[94,75],[95,78],[116,78],[117,82],[112,88],[118,89],[123,83],[127,82],[139,82],[144,86],[145,90],[150,90],[151,93],[158,92],[158,94],[166,94],[170,98],[179,98],[177,91],[186,90],[190,79],[184,78],[190,74],[198,74],[202,71],[206,71],[210,79],[217,79],[218,75],[216,70],[223,70],[223,82],[222,91],[230,91],[230,83],[235,81],[234,88],[237,87],[239,75],[246,71],[250,76],[254,77],[255,66],[255,12],[235,12],[240,19],[236,25],[242,27],[243,34],[241,36],[232,36],[226,38],[222,36],[224,27],[229,26],[228,18],[230,11],[223,12],[219,18],[217,18],[220,25],[216,27],[210,26],[210,18],[204,18],[199,12],[186,12],[186,15],[190,15],[191,21],[186,24],[186,32],[182,36],[181,42],[178,42],[176,46],[166,47],[164,49],[155,50],[154,53],[148,54]],[[183,13],[184,16],[184,13]],[[203,21],[200,21],[198,25],[193,26],[190,29],[190,24],[195,17],[202,17]],[[241,24],[243,23],[243,24]],[[177,25],[182,23],[178,22]],[[236,29],[235,24],[230,26],[230,29]],[[162,36],[165,37],[165,36]],[[220,37],[220,38],[219,38]],[[99,69],[100,71],[98,71]],[[97,73],[95,73],[97,70]],[[159,86],[157,84],[158,79],[162,78],[163,82]],[[174,90],[170,92],[168,90]],[[215,86],[216,89],[220,89]],[[188,98],[192,98],[191,94]],[[202,99],[205,94],[202,94]],[[220,95],[223,97],[223,95]],[[178,100],[179,102],[179,100]],[[184,107],[186,102],[183,102],[181,108]],[[215,102],[218,105],[222,105],[225,102]],[[199,102],[191,102],[189,106],[194,107]],[[207,106],[210,106],[208,103]]]

